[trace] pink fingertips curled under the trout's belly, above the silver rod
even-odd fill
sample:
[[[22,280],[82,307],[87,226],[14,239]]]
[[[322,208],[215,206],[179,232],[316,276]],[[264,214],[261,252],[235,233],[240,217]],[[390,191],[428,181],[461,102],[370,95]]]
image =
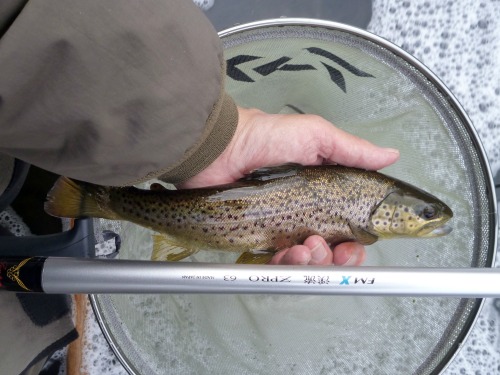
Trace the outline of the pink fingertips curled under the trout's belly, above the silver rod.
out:
[[[296,245],[278,252],[269,264],[282,265],[334,265],[359,266],[366,257],[363,245],[345,242],[330,250],[320,236],[311,236],[303,245]]]

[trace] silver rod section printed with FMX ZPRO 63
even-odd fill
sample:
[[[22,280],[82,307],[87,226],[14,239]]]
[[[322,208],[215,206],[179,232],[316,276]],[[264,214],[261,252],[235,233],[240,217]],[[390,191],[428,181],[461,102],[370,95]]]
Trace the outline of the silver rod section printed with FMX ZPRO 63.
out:
[[[231,265],[48,258],[45,293],[500,297],[500,269]]]

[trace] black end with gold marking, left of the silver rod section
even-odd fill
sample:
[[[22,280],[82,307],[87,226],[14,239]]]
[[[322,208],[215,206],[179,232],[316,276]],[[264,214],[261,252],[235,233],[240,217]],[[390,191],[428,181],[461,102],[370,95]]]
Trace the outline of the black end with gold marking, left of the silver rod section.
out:
[[[42,272],[47,257],[0,257],[0,290],[43,293]]]

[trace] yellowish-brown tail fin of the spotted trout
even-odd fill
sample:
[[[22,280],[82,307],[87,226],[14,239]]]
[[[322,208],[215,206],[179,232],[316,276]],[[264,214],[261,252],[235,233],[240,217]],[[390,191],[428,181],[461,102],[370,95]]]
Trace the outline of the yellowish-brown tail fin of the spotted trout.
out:
[[[118,219],[109,208],[110,188],[60,177],[47,194],[45,212],[57,217]]]

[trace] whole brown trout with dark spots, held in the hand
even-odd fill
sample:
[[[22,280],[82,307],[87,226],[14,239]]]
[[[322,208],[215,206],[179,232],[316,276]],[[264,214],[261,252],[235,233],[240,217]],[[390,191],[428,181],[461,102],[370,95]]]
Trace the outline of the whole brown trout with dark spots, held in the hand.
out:
[[[452,210],[437,197],[377,171],[285,164],[205,188],[106,187],[60,177],[45,211],[57,217],[126,220],[155,231],[152,259],[199,250],[242,253],[267,263],[281,249],[320,235],[330,245],[431,238],[451,232]]]

